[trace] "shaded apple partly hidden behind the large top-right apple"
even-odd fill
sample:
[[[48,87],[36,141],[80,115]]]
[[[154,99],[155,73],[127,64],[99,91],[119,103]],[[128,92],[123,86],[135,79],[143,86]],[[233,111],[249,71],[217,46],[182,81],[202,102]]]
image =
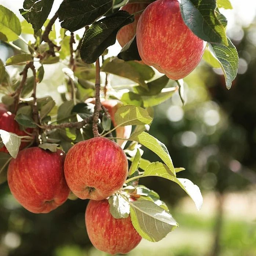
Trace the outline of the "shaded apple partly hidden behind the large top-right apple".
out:
[[[134,14],[135,12],[144,10],[149,4],[126,4],[125,6],[122,6],[120,10],[127,11],[129,14]],[[134,15],[134,22],[122,27],[118,33],[117,33],[117,41],[121,45],[121,47],[124,47],[125,44],[127,44],[136,34],[136,27],[139,20],[140,15],[142,12]]]

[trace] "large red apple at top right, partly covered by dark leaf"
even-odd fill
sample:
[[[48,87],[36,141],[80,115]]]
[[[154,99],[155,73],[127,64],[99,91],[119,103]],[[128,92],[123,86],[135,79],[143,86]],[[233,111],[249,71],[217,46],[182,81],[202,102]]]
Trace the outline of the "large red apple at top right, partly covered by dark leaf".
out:
[[[206,42],[184,23],[178,0],[157,0],[139,18],[136,39],[142,61],[178,80],[200,62]]]

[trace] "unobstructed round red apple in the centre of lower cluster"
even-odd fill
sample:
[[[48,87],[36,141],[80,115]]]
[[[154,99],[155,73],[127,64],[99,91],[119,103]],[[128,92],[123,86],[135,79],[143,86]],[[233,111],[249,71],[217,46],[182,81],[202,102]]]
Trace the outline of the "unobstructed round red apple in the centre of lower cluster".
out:
[[[96,137],[78,142],[68,151],[64,173],[77,197],[102,200],[122,187],[128,174],[128,161],[117,143]]]

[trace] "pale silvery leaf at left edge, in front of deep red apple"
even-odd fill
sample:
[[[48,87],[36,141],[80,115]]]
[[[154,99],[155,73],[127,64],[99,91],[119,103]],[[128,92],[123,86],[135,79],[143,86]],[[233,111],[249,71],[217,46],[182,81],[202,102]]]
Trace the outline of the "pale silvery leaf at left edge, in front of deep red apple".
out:
[[[10,155],[16,158],[19,152],[19,146],[21,145],[21,137],[2,129],[0,129],[0,136]]]

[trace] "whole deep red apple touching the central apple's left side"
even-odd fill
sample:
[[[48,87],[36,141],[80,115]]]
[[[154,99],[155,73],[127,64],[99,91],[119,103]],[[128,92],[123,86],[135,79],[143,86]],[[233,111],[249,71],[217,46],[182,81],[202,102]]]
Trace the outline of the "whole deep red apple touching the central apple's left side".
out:
[[[48,213],[62,205],[69,196],[64,176],[65,153],[30,147],[19,151],[7,171],[12,195],[28,211]]]

